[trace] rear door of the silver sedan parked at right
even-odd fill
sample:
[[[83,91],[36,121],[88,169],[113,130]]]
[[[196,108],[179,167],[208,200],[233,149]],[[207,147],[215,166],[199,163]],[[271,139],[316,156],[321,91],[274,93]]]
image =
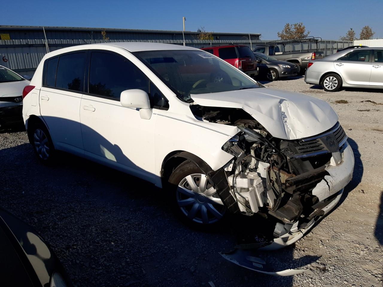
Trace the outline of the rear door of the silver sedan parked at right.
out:
[[[334,61],[335,69],[349,85],[369,85],[372,50],[357,50]]]

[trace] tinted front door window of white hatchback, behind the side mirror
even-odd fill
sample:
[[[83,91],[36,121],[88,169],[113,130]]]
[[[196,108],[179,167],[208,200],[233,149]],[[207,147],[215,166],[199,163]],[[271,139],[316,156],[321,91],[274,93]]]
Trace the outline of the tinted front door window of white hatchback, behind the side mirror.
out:
[[[122,91],[131,89],[149,93],[149,79],[139,68],[120,55],[92,52],[89,93],[119,99]]]

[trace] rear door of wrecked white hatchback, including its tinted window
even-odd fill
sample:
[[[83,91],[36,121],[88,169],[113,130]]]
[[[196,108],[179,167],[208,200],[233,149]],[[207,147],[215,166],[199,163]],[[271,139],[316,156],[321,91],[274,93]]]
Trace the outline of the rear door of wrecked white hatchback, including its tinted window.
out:
[[[56,148],[82,153],[80,101],[88,51],[62,54],[44,63],[40,113]]]

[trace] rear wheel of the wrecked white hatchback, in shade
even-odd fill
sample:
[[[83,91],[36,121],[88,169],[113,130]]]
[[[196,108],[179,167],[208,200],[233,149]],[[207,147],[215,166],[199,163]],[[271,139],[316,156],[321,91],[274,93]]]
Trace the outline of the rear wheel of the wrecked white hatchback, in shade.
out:
[[[56,161],[57,151],[54,148],[51,135],[43,123],[33,123],[28,129],[29,139],[39,161],[44,165],[53,165]],[[46,140],[44,140],[44,138]],[[41,143],[44,143],[43,145]]]

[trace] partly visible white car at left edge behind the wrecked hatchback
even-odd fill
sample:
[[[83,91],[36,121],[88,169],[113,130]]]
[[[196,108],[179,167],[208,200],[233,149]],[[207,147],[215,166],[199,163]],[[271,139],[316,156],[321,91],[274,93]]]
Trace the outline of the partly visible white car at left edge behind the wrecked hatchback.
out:
[[[0,66],[0,128],[22,123],[23,89],[29,81]]]

